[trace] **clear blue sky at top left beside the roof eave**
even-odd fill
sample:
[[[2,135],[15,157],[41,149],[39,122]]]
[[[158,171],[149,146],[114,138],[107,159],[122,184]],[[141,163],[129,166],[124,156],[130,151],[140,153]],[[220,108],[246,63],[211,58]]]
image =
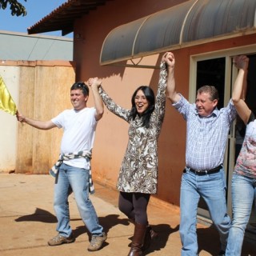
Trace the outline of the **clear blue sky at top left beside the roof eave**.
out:
[[[26,16],[12,16],[10,6],[0,9],[0,30],[22,32],[27,34],[27,28],[39,22],[46,15],[61,6],[67,0],[18,0],[26,8]],[[41,33],[41,35],[62,36],[62,31]],[[73,38],[73,33],[65,37]]]

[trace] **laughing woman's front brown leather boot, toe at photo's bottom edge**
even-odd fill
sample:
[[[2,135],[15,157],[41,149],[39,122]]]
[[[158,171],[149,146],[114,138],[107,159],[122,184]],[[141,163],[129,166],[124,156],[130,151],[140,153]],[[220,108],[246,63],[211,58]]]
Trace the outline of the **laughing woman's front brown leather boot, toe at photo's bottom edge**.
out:
[[[146,234],[146,225],[135,222],[133,242],[128,256],[142,256],[142,246]]]

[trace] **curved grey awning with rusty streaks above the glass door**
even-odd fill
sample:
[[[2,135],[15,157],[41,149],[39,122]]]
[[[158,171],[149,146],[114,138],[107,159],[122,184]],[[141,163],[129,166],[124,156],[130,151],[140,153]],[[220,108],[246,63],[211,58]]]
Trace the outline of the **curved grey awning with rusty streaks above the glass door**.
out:
[[[190,0],[110,31],[100,64],[255,33],[256,0]]]

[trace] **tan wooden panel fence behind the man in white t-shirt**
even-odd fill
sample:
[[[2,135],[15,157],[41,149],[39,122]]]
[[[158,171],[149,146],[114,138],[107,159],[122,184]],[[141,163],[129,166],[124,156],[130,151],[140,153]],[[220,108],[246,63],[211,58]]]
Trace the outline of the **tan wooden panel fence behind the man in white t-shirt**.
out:
[[[18,111],[47,121],[72,108],[70,86],[75,81],[73,62],[5,62],[18,66]],[[27,124],[17,126],[15,173],[47,174],[58,159],[62,130],[38,130]]]

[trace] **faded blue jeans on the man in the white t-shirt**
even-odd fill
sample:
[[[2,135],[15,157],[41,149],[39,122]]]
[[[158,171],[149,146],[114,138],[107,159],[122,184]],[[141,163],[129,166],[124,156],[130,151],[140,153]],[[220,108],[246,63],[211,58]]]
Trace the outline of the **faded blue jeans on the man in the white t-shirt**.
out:
[[[68,196],[73,190],[79,214],[92,235],[101,235],[103,228],[89,198],[89,171],[62,163],[54,187],[54,210],[58,219],[56,230],[64,237],[72,234]]]

